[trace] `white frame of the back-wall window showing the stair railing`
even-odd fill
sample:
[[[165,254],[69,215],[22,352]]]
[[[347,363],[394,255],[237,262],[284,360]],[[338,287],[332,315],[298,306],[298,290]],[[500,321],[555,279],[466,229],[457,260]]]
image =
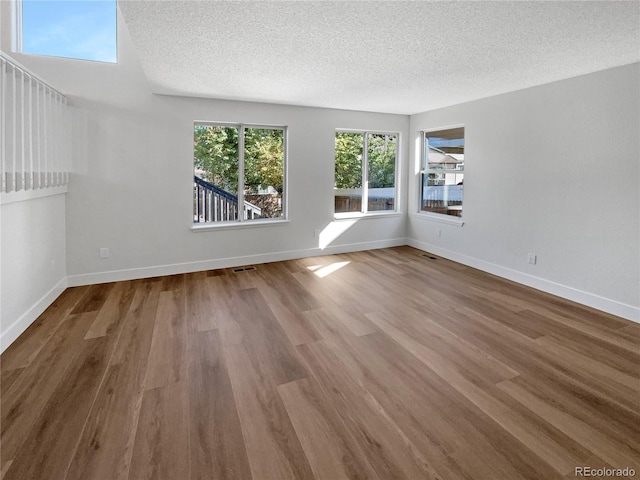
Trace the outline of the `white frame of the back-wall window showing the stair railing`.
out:
[[[289,127],[287,125],[271,125],[271,124],[254,124],[254,123],[237,123],[237,122],[215,122],[215,121],[194,121],[193,127],[197,125],[213,126],[213,127],[229,127],[238,129],[238,205],[244,205],[244,131],[248,128],[256,128],[263,130],[282,130],[282,149],[283,149],[283,179],[282,179],[282,216],[276,218],[258,218],[245,219],[244,215],[238,214],[236,220],[227,220],[221,222],[202,222],[193,223],[191,229],[193,231],[205,231],[219,228],[235,228],[239,226],[264,226],[266,224],[289,223],[289,185],[288,185],[288,137]],[[193,133],[192,133],[193,135]],[[191,137],[191,153],[193,155],[193,136]],[[193,158],[191,160],[191,176],[193,177]],[[193,217],[193,212],[192,212]]]

